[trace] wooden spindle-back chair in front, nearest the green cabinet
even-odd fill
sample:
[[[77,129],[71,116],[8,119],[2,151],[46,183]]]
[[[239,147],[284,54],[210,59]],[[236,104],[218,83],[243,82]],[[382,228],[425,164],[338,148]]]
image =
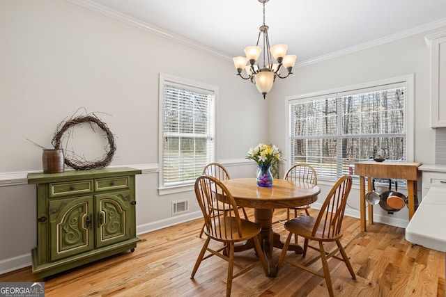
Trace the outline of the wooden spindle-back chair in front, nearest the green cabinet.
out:
[[[215,177],[201,175],[195,182],[195,195],[203,212],[205,220],[204,234],[206,234],[207,239],[203,244],[203,248],[201,248],[190,278],[194,278],[201,262],[213,255],[217,255],[229,262],[226,278],[226,296],[231,296],[232,280],[255,266],[261,264],[263,272],[267,275],[268,268],[258,238],[261,226],[240,218],[236,201],[226,186]],[[224,200],[224,203],[217,203],[219,200]],[[218,211],[215,212],[215,209]],[[211,239],[224,243],[224,246],[217,250],[209,248],[208,245]],[[254,239],[256,255],[259,259],[253,254],[256,261],[252,264],[244,265],[234,259],[234,244],[247,241],[248,239]],[[205,257],[206,251],[210,252],[210,254]],[[234,265],[240,268],[236,274],[233,274]]]

